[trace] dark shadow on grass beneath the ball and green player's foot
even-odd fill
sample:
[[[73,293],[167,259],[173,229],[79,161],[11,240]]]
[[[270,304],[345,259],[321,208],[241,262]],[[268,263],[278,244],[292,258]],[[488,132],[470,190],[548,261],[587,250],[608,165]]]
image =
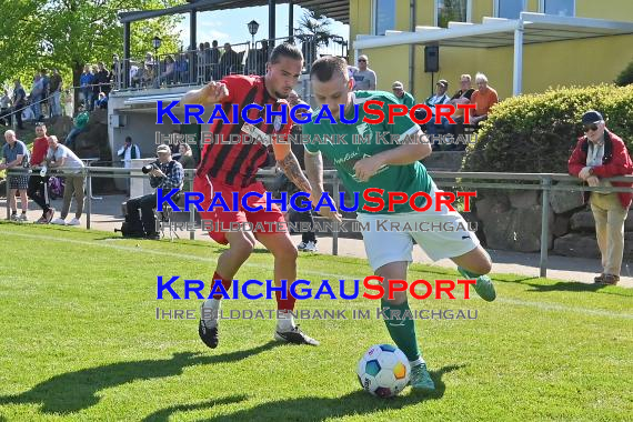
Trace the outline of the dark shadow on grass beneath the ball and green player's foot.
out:
[[[210,419],[214,422],[224,421],[304,421],[316,422],[325,419],[363,415],[381,410],[398,410],[414,405],[426,400],[439,400],[446,389],[442,378],[444,374],[456,371],[464,365],[449,365],[431,372],[435,382],[434,394],[424,395],[410,391],[406,395],[393,399],[378,399],[365,391],[359,390],[340,398],[304,396],[300,399],[267,402],[254,408],[241,410],[231,414]]]

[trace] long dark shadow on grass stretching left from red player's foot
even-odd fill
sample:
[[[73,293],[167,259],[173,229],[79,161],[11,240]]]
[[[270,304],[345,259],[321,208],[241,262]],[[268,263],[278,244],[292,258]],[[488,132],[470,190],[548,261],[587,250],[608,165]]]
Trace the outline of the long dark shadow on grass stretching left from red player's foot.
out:
[[[174,353],[170,359],[117,362],[102,366],[54,375],[31,390],[17,395],[0,396],[3,404],[42,404],[42,413],[68,414],[99,403],[101,390],[137,380],[174,376],[187,366],[240,361],[273,349],[279,343],[270,341],[257,348],[218,355],[201,353]]]

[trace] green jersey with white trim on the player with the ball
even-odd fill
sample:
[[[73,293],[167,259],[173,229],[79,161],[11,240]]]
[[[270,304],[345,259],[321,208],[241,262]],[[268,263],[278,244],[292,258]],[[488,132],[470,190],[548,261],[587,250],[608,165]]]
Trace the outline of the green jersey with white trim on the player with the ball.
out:
[[[321,152],[330,159],[338,170],[339,177],[349,192],[359,192],[359,212],[366,203],[362,192],[369,188],[384,189],[383,199],[385,207],[379,213],[390,213],[386,207],[386,192],[405,192],[411,197],[415,192],[431,192],[433,184],[431,177],[422,163],[415,161],[406,165],[385,165],[381,168],[366,182],[361,182],[354,177],[354,164],[356,161],[374,155],[379,152],[400,147],[400,143],[408,135],[415,135],[420,127],[409,118],[409,115],[396,115],[393,124],[389,124],[389,104],[396,104],[395,96],[383,91],[354,91],[353,103],[358,104],[359,119],[356,123],[348,124],[338,122],[332,124],[329,119],[321,119],[314,123],[321,108],[316,109],[310,123],[303,125],[303,134],[309,134],[310,140],[305,143],[305,150],[310,153]],[[381,123],[370,124],[363,122],[365,115],[375,119],[375,114],[368,114],[363,111],[363,103],[368,100],[383,102],[382,110],[384,120]],[[372,105],[376,109],[378,105]],[[345,114],[345,119],[354,117],[353,109]],[[369,142],[368,142],[369,140]],[[375,194],[372,194],[375,197]],[[419,197],[415,201],[418,207],[423,207],[424,198]],[[368,207],[375,207],[375,202],[370,202]],[[393,213],[414,212],[409,202],[394,207]]]

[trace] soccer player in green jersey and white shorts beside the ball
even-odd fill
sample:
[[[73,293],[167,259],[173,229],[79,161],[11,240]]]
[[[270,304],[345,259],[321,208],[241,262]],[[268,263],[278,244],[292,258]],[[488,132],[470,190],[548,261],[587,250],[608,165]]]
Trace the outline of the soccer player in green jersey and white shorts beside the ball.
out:
[[[440,190],[426,172],[424,165],[419,160],[431,153],[431,145],[421,131],[420,127],[413,122],[409,115],[394,117],[393,124],[389,124],[385,118],[383,122],[369,124],[363,122],[368,115],[375,119],[375,114],[363,111],[363,102],[378,100],[383,102],[384,115],[388,117],[389,104],[398,103],[395,97],[382,91],[353,91],[346,72],[345,61],[338,57],[324,57],[312,64],[310,71],[312,90],[316,101],[321,105],[312,114],[310,123],[303,127],[303,134],[310,134],[312,142],[305,144],[305,170],[310,184],[312,185],[312,198],[320,198],[323,194],[323,161],[322,154],[334,162],[339,177],[349,192],[360,192],[358,220],[365,227],[370,223],[369,230],[363,231],[363,241],[370,265],[374,273],[384,280],[405,280],[406,270],[412,262],[413,241],[415,241],[426,254],[433,260],[451,258],[458,264],[458,270],[468,279],[476,279],[474,285],[478,294],[486,300],[493,301],[496,297],[494,287],[488,274],[492,262],[490,255],[480,245],[479,239],[468,230],[455,231],[385,231],[378,229],[378,220],[388,219],[404,225],[409,222],[429,222],[453,224],[453,227],[468,227],[464,219],[456,211],[449,211],[445,204],[441,210],[435,211],[433,204],[425,212],[415,212],[409,203],[395,205],[393,212],[389,212],[386,207],[376,213],[362,211],[365,203],[362,192],[368,188],[384,189],[384,192],[405,192],[409,197],[415,192],[424,191],[435,198],[435,192]],[[354,117],[354,107],[358,105],[359,119],[355,123],[346,124],[341,122],[340,105],[344,104],[345,120]],[[328,105],[335,123],[329,119],[320,119],[315,123],[315,118],[321,113],[323,105]],[[394,134],[398,142],[378,142],[376,140],[389,134]],[[344,142],[314,142],[316,135],[346,134]],[[353,135],[370,137],[369,143],[352,142]],[[411,138],[415,135],[415,138]],[[400,138],[399,138],[400,137]],[[420,142],[402,142],[406,139],[422,140]],[[325,138],[328,139],[328,138]],[[330,139],[336,139],[332,137]],[[358,139],[358,138],[356,138]],[[419,198],[424,204],[424,199]],[[372,207],[373,207],[372,202]],[[321,208],[321,214],[340,219],[336,211],[325,207]],[[388,224],[391,227],[391,224]],[[432,225],[431,225],[432,227]],[[381,300],[382,308],[388,308],[385,315],[393,315],[400,311],[400,315],[410,311],[406,292],[395,292],[393,300],[388,300],[386,294]],[[393,313],[392,313],[393,312]],[[406,354],[411,362],[411,385],[424,392],[433,392],[435,385],[426,369],[426,363],[418,346],[415,326],[412,319],[395,320],[385,319],[386,329],[395,344]]]

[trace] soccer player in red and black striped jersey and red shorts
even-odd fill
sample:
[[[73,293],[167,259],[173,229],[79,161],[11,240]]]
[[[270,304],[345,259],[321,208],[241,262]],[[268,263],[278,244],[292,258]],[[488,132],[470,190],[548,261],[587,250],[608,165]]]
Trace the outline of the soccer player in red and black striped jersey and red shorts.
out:
[[[262,118],[262,122],[254,127],[267,135],[278,135],[283,139],[290,132],[291,120],[282,124],[281,119],[275,117],[267,124],[265,104],[271,104],[274,111],[279,111],[282,104],[287,104],[285,98],[299,81],[303,67],[303,56],[301,51],[289,43],[282,43],[274,48],[269,62],[267,63],[265,77],[257,76],[228,76],[221,81],[210,82],[205,87],[187,92],[181,103],[200,104],[205,109],[214,104],[221,104],[222,110],[233,121],[232,104],[239,104],[238,112],[251,103],[264,108],[261,112],[257,109],[249,110],[249,118]],[[233,209],[232,192],[242,195],[248,192],[264,193],[264,187],[255,180],[258,169],[268,161],[269,149],[262,142],[245,142],[244,132],[252,125],[245,123],[240,117],[238,124],[224,123],[215,120],[210,131],[214,134],[214,140],[204,145],[202,159],[198,167],[197,177],[193,182],[193,190],[201,192],[204,200],[201,205],[209,210],[214,192],[220,192],[229,209]],[[261,134],[261,132],[259,132]],[[248,132],[247,132],[248,133]],[[230,141],[240,135],[244,142]],[[272,138],[274,139],[274,137]],[[252,138],[251,138],[252,140]],[[283,169],[288,178],[297,187],[305,192],[311,192],[310,182],[303,175],[297,158],[291,151],[289,142],[272,142],[274,157],[278,165]],[[287,285],[297,279],[297,249],[290,239],[288,231],[277,230],[278,222],[285,224],[283,214],[274,208],[265,211],[265,199],[258,200],[251,197],[250,207],[264,205],[264,210],[250,212],[241,205],[239,211],[224,211],[218,207],[211,212],[201,212],[201,218],[212,220],[213,225],[218,223],[229,227],[232,222],[250,222],[253,227],[263,223],[264,231],[237,231],[221,232],[210,231],[211,238],[219,243],[229,244],[218,259],[218,267],[213,274],[213,280],[221,280],[224,289],[231,287],[231,281],[240,267],[250,257],[255,245],[255,240],[260,241],[274,255],[274,281],[278,287],[281,280],[287,280]],[[269,222],[274,225],[269,229]],[[215,291],[217,292],[217,291]],[[294,298],[287,292],[287,299],[282,299],[281,292],[277,291],[278,322],[274,339],[297,344],[318,345],[319,342],[305,335],[294,323],[292,315],[288,311],[294,309]],[[213,299],[208,299],[202,304],[202,318],[199,324],[199,334],[204,344],[214,349],[218,346],[218,312],[220,310],[221,295],[215,294]],[[281,311],[281,312],[279,312]]]

